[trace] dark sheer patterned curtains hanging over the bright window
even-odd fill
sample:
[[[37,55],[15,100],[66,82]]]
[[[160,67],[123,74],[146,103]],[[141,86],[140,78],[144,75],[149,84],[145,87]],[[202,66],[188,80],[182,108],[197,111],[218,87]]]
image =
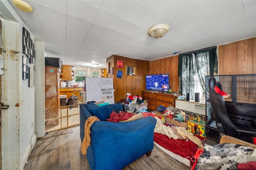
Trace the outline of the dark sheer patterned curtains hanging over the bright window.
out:
[[[191,54],[179,55],[178,77],[179,91],[194,100],[194,76],[198,75],[202,91],[206,90],[205,77],[218,73],[218,61],[216,49],[200,51]]]

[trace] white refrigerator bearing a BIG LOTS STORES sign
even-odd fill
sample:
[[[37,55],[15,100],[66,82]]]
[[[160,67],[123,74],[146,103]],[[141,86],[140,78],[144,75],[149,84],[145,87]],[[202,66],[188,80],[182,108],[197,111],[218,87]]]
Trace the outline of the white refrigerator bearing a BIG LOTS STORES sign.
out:
[[[113,78],[86,78],[86,101],[114,104]]]

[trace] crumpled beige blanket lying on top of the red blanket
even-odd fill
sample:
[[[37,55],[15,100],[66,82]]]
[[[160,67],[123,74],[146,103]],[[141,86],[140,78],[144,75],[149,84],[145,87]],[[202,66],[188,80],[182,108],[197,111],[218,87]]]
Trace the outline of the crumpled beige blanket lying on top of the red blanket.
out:
[[[168,136],[169,138],[173,139],[188,139],[198,145],[198,147],[204,149],[204,145],[202,144],[202,141],[193,135],[193,133],[190,133],[186,130],[185,127],[170,127],[166,126],[162,123],[162,121],[155,117],[156,119],[156,127],[154,129],[154,132],[161,133],[163,135]]]

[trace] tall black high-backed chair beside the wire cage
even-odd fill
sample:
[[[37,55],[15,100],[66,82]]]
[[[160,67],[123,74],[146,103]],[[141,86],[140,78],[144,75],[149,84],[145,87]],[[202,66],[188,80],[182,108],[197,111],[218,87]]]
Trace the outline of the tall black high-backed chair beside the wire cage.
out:
[[[217,129],[220,137],[229,135],[235,138],[241,138],[241,133],[256,135],[256,130],[244,129],[237,127],[234,122],[228,117],[228,111],[224,98],[215,92],[214,87],[216,79],[211,77],[209,79],[209,98],[212,106],[213,117],[215,119]],[[220,84],[221,85],[221,84]],[[252,141],[251,141],[252,142]]]

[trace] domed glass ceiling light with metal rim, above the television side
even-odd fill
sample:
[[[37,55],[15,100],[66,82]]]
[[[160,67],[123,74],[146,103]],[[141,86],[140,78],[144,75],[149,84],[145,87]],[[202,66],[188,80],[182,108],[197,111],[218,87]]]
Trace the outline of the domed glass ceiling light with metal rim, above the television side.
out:
[[[148,29],[148,34],[154,38],[161,38],[167,33],[169,28],[169,25],[166,24],[154,25]]]

